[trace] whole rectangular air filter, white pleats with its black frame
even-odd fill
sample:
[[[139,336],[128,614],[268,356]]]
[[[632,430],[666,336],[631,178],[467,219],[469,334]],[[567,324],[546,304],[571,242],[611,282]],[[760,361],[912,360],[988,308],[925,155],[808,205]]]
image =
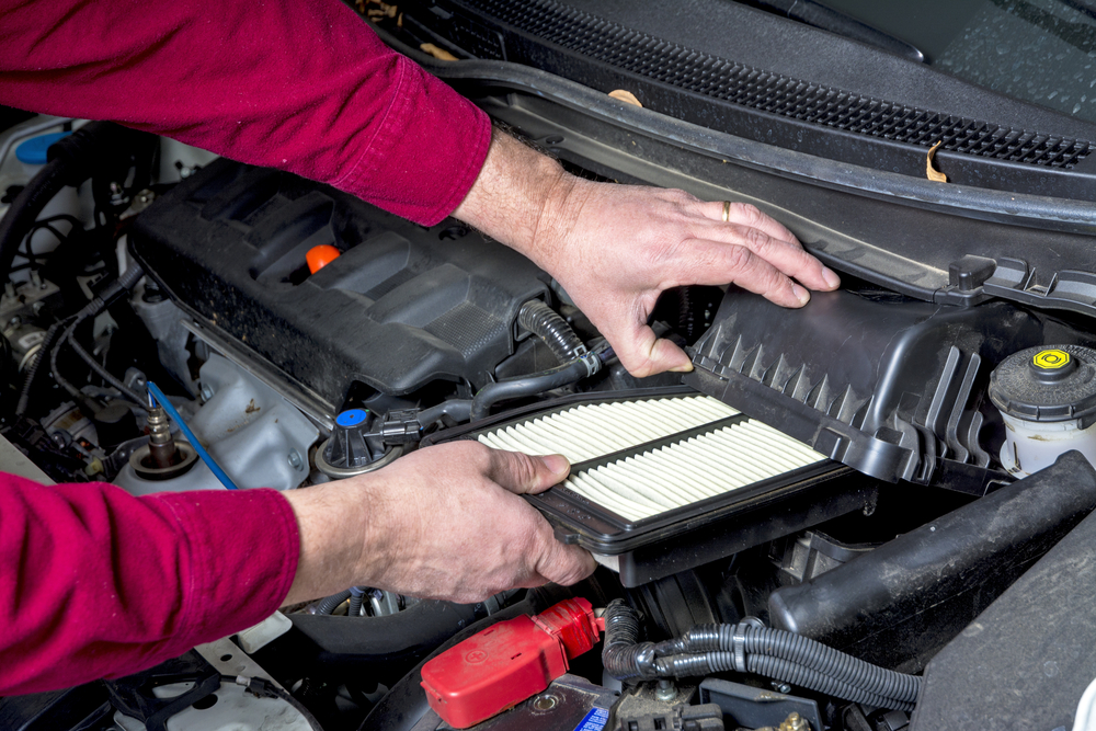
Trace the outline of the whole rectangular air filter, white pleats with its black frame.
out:
[[[437,432],[562,454],[567,481],[525,499],[559,540],[641,586],[863,510],[872,482],[718,399],[682,388],[583,393]]]

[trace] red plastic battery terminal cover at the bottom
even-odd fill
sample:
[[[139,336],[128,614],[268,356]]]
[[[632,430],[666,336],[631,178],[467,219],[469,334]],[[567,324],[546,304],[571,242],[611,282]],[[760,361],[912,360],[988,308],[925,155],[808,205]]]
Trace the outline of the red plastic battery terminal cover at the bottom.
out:
[[[547,688],[597,643],[597,628],[583,598],[501,621],[423,665],[426,700],[446,723],[467,729]]]

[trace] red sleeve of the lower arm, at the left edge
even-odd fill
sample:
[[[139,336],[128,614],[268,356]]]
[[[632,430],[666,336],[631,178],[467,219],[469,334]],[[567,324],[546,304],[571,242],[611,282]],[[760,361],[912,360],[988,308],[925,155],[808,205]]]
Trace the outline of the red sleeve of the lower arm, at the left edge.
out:
[[[0,475],[0,696],[121,677],[270,616],[300,550],[275,490],[134,498]]]

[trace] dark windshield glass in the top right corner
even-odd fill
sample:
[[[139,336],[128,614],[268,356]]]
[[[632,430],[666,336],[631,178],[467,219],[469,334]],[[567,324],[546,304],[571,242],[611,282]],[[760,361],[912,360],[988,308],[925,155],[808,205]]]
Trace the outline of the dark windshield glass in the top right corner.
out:
[[[941,71],[1096,122],[1093,0],[822,0],[822,4],[913,44]]]

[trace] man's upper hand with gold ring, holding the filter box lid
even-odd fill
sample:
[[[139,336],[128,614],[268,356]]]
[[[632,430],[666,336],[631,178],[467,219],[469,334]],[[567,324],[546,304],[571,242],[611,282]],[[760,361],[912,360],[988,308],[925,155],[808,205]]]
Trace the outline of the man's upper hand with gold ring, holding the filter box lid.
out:
[[[724,222],[722,202],[582,180],[499,132],[455,215],[551,273],[639,377],[692,369],[688,356],[647,324],[665,289],[737,284],[802,307],[808,289],[840,284],[753,206],[732,204]]]

